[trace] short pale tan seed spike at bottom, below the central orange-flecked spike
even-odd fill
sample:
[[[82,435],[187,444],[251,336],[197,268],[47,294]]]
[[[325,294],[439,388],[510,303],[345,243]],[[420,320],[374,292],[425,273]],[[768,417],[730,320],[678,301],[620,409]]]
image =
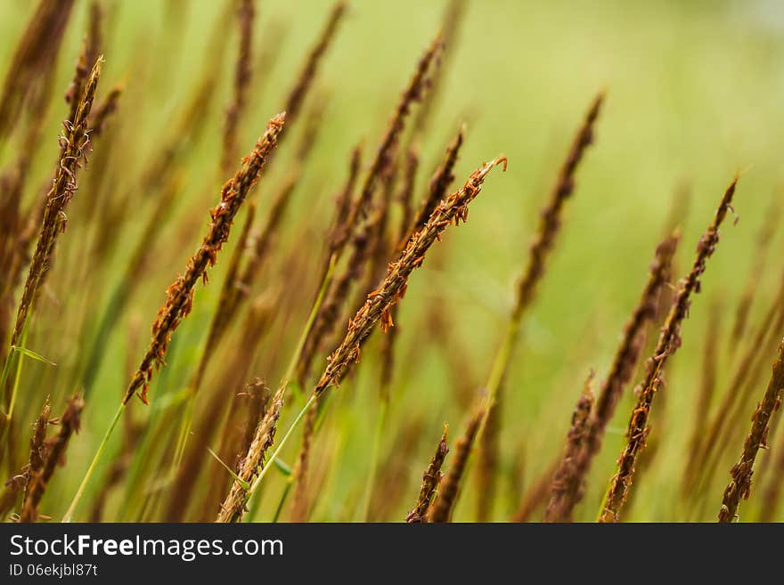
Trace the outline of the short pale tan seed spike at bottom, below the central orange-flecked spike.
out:
[[[281,416],[283,407],[283,396],[286,393],[286,386],[282,385],[275,392],[272,402],[267,407],[264,418],[258,424],[253,442],[250,443],[248,453],[242,459],[240,471],[237,474],[245,483],[250,483],[264,464],[266,451],[272,446],[275,440],[275,430],[278,426],[278,418]],[[248,500],[247,490],[236,480],[232,483],[232,489],[226,496],[221,510],[217,515],[216,522],[230,523],[240,522],[245,513],[245,503]]]

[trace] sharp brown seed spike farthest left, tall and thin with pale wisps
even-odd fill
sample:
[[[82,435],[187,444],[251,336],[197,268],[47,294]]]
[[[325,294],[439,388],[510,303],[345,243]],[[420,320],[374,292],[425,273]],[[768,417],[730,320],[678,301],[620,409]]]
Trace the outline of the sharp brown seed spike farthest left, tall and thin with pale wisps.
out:
[[[22,329],[24,329],[27,323],[30,307],[37,297],[38,289],[45,279],[45,274],[52,260],[57,236],[65,230],[64,210],[77,190],[76,177],[78,168],[82,166],[82,161],[86,160],[86,149],[90,142],[87,117],[93,107],[98,78],[101,76],[101,61],[101,58],[95,61],[85,93],[79,100],[76,116],[63,124],[66,132],[60,138],[60,160],[52,189],[47,193],[41,232],[38,236],[36,251],[30,263],[28,278],[22,292],[16,324],[11,337],[11,345],[17,345],[19,342]]]

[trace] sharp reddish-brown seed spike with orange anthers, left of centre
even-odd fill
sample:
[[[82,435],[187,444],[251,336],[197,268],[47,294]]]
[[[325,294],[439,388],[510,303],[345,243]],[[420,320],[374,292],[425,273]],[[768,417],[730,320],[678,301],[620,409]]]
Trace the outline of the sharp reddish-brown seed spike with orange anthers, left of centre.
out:
[[[284,118],[283,114],[279,114],[269,121],[265,134],[258,140],[249,157],[244,159],[241,169],[233,179],[225,183],[220,202],[210,212],[209,230],[200,248],[189,259],[184,276],[175,280],[167,289],[167,302],[160,307],[158,318],[152,324],[150,346],[131,378],[123,397],[124,403],[137,392],[142,401],[147,402],[147,389],[152,379],[153,367],[164,363],[172,333],[191,311],[193,289],[200,279],[207,280],[207,270],[216,263],[217,253],[228,239],[234,216],[240,210],[251,186],[256,183],[266,158],[277,144]]]

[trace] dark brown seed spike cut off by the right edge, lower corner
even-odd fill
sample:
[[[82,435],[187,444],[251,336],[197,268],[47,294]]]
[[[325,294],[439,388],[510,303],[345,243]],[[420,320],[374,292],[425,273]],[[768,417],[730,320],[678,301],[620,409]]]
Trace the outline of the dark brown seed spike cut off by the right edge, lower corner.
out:
[[[732,522],[738,516],[740,500],[748,500],[751,494],[751,476],[754,474],[754,463],[760,449],[767,449],[768,427],[773,414],[781,405],[781,393],[784,392],[784,341],[779,346],[779,354],[773,362],[771,379],[765,389],[762,402],[757,404],[751,418],[751,430],[740,459],[730,472],[731,481],[724,490],[722,508],[719,510],[719,522]]]

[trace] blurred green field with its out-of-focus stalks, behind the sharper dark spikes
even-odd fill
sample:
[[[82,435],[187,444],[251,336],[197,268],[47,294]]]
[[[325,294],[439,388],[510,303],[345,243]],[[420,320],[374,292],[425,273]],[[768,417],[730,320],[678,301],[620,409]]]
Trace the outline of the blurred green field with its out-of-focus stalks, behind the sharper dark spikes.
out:
[[[67,231],[57,238],[51,270],[29,315],[23,343],[17,344],[57,365],[29,355],[20,360],[23,354],[12,352],[4,381],[4,412],[12,395],[15,404],[2,435],[2,468],[8,477],[25,475],[21,469],[29,463],[31,425],[46,396],[52,416],[59,417],[69,396],[77,391],[85,395],[81,429],[70,437],[64,467],[46,482],[39,506],[39,514],[53,520],[61,520],[74,501],[149,343],[151,323],[167,300],[165,291],[200,247],[221,185],[264,134],[267,120],[287,108],[290,88],[332,5],[327,0],[250,3],[256,8],[249,39],[252,77],[242,90],[245,98],[226,172],[221,168],[225,117],[236,99],[241,45],[236,4],[97,3],[102,29],[98,48],[104,62],[96,104],[115,85],[122,93],[101,134],[91,138],[90,162],[78,170],[78,190],[65,210]],[[195,287],[192,312],[172,336],[167,365],[152,380],[150,404],[136,398],[128,402],[72,518],[215,519],[232,476],[206,447],[219,451],[242,421],[250,431],[255,427],[260,414],[249,415],[253,409],[243,393],[246,383],[261,378],[274,393],[285,376],[322,283],[335,194],[346,182],[351,152],[362,144],[361,184],[417,61],[443,25],[445,10],[464,4],[452,42],[439,61],[441,69],[433,66],[437,77],[423,92],[423,103],[429,105],[426,126],[410,134],[422,107],[413,103],[391,164],[396,182],[390,180],[385,191],[380,181],[372,199],[378,202],[404,191],[407,149],[414,147],[419,167],[411,200],[418,206],[462,122],[465,140],[449,192],[458,190],[483,161],[502,155],[509,167],[487,176],[470,205],[469,221],[459,229],[447,228],[443,241],[433,245],[421,269],[412,273],[394,313],[395,365],[388,405],[382,406],[380,393],[387,350],[377,331],[339,388],[330,388],[319,399],[318,417],[310,420],[314,428],[306,474],[299,474],[297,465],[302,429],[307,427],[300,424],[280,451],[277,460],[282,465],[269,467],[242,519],[403,521],[445,422],[451,449],[444,464],[448,476],[473,404],[486,398],[481,388],[516,304],[516,283],[528,261],[540,209],[585,112],[594,96],[605,91],[594,141],[576,169],[574,193],[565,203],[560,231],[510,354],[500,419],[493,423],[497,458],[493,465],[483,463],[483,425],[451,517],[507,521],[521,504],[531,503],[533,511],[526,519],[543,518],[550,492],[536,497],[536,484],[550,484],[589,371],[596,372],[594,391],[606,377],[657,244],[674,227],[682,230],[673,287],[665,288],[665,297],[671,298],[678,279],[690,270],[723,192],[739,174],[733,211],[720,229],[721,241],[706,264],[701,291],[691,297],[682,345],[669,356],[665,384],[652,404],[648,445],[637,461],[621,516],[632,522],[715,521],[784,335],[784,329],[775,329],[784,315],[776,305],[781,288],[777,260],[784,246],[778,229],[784,205],[784,134],[778,131],[784,127],[784,10],[763,0],[348,4],[311,76],[305,102],[296,116],[287,118],[285,140],[267,160],[257,188],[250,191],[215,267],[208,271],[208,285]],[[17,44],[36,10],[34,2],[0,2],[0,75],[11,70]],[[28,158],[20,203],[24,213],[35,213],[40,194],[60,168],[57,135],[63,133],[61,121],[70,109],[62,95],[74,77],[90,14],[91,4],[77,0],[53,57],[51,81],[37,81],[37,86],[45,85],[48,97],[30,105],[35,95],[27,95],[13,129],[0,133],[0,168],[5,173],[25,151],[27,129],[35,120],[44,122]],[[47,75],[39,69],[36,78]],[[205,83],[213,84],[208,91],[203,91]],[[180,124],[200,91],[202,111]],[[305,157],[301,146],[311,142],[311,130],[317,134]],[[171,144],[176,144],[176,155],[167,159]],[[241,296],[222,342],[209,349],[208,367],[198,393],[193,393],[193,376],[213,317],[224,302],[221,290],[231,257],[241,246],[249,205],[256,205],[252,230],[257,232],[277,192],[292,176],[296,184],[290,205],[275,224],[264,263],[249,294]],[[9,191],[0,195],[10,200]],[[159,206],[161,199],[167,201],[165,206]],[[401,221],[398,203],[390,204],[377,247],[382,267],[393,259],[390,244],[396,243]],[[20,234],[8,227],[12,215],[3,206],[2,239],[10,249],[8,242],[18,241]],[[151,221],[157,207],[161,213]],[[765,256],[758,241],[766,224],[772,235]],[[352,229],[355,233],[358,228]],[[39,231],[36,227],[35,237],[27,242],[30,253]],[[141,261],[129,272],[137,249],[143,250]],[[351,256],[350,251],[342,256],[333,282],[347,270]],[[373,258],[365,261],[372,270]],[[375,266],[378,281],[383,271],[378,271],[378,262]],[[26,264],[16,282],[11,272],[0,275],[3,291],[10,294],[0,315],[6,345],[27,275]],[[341,297],[334,333],[319,345],[310,374],[299,380],[303,387],[292,384],[286,394],[278,441],[306,404],[327,355],[346,332],[352,309],[373,289],[363,287],[376,281],[366,282],[361,274]],[[118,290],[126,294],[121,304],[113,297]],[[745,291],[754,297],[747,329],[737,337],[732,328]],[[643,378],[642,364],[656,345],[657,328],[669,306],[664,310],[646,326],[648,339],[587,475],[575,520],[593,521],[599,515],[627,443],[636,400],[633,386]],[[249,333],[254,319],[257,329]],[[102,322],[104,339],[99,337]],[[764,334],[763,343],[755,339],[758,331]],[[99,361],[91,365],[93,353]],[[706,360],[706,353],[713,359]],[[747,354],[751,357],[745,361]],[[713,369],[715,384],[710,383]],[[738,376],[747,391],[731,388]],[[698,448],[708,456],[692,460],[690,472],[700,479],[684,487],[690,454],[698,449],[691,437],[705,386],[714,392],[700,427],[706,443]],[[722,412],[726,396],[736,394],[738,405]],[[225,426],[225,412],[233,402],[239,406]],[[708,428],[716,420],[722,421],[723,430],[710,438]],[[784,451],[784,429],[776,433],[776,420],[772,418],[768,435],[770,449],[755,462],[751,496],[740,506],[742,521],[784,517],[784,507],[775,502],[784,481],[784,461],[776,461]],[[58,427],[50,427],[50,437],[57,433]],[[178,465],[183,445],[184,463]],[[49,451],[51,447],[44,450]],[[241,453],[231,453],[225,463],[239,473]],[[492,469],[494,489],[480,477],[485,464]],[[287,475],[285,467],[292,468],[293,475]],[[181,475],[184,479],[178,483]],[[20,512],[26,497],[23,487],[14,487],[17,483],[6,487],[7,517]],[[187,497],[183,483],[190,484]],[[484,517],[478,512],[482,501]]]

